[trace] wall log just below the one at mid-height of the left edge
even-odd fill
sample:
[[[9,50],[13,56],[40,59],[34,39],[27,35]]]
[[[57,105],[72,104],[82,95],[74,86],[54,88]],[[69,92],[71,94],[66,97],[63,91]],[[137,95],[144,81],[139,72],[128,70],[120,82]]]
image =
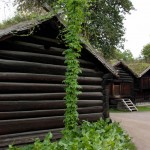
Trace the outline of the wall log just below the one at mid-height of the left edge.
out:
[[[83,92],[100,92],[102,86],[82,85]],[[10,83],[0,82],[0,93],[51,93],[65,92],[64,84],[43,84],[43,83]]]

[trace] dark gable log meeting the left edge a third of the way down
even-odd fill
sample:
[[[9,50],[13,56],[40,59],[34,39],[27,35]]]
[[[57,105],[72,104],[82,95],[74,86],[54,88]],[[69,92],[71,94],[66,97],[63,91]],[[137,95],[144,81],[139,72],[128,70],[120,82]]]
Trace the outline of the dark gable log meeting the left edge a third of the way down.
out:
[[[55,65],[64,65],[65,58],[64,56],[55,56],[47,54],[39,54],[32,52],[18,52],[18,51],[8,51],[0,50],[0,58],[11,59],[11,60],[20,60],[20,61],[29,61],[29,62],[39,62],[46,64],[55,64]],[[79,59],[81,67],[85,68],[94,68],[94,64]]]

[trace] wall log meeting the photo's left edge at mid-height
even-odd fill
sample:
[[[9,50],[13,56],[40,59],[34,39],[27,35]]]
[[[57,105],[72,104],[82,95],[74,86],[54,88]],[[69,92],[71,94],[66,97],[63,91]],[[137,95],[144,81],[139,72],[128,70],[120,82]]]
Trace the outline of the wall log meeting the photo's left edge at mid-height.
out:
[[[31,82],[32,83],[62,83],[65,79],[63,75],[48,75],[48,74],[32,74],[32,73],[13,73],[13,72],[0,72],[0,80],[5,82]],[[83,85],[100,85],[102,78],[100,77],[79,77],[79,84]]]

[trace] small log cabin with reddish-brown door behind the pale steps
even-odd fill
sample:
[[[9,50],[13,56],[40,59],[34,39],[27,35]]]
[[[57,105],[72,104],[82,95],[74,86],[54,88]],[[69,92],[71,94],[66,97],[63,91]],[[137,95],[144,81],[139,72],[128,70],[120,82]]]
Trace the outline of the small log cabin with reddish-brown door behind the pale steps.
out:
[[[135,101],[138,90],[137,74],[134,73],[123,61],[118,61],[113,67],[118,72],[110,85],[110,105],[116,107],[121,99],[128,98]]]

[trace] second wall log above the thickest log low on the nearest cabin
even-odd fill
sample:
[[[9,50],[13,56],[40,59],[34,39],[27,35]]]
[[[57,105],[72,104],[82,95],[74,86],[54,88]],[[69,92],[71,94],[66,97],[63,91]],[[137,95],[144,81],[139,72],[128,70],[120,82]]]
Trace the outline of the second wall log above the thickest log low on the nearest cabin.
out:
[[[102,100],[78,100],[78,107],[102,106]],[[0,101],[0,112],[64,109],[64,100]],[[2,117],[2,116],[1,116]]]

